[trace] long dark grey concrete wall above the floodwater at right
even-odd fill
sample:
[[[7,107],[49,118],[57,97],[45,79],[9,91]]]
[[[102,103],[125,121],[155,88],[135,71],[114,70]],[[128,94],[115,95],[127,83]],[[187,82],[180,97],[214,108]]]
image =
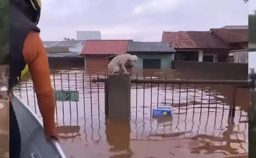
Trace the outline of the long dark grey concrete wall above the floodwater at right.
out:
[[[172,68],[187,79],[243,79],[248,78],[248,64],[221,62],[173,61]]]

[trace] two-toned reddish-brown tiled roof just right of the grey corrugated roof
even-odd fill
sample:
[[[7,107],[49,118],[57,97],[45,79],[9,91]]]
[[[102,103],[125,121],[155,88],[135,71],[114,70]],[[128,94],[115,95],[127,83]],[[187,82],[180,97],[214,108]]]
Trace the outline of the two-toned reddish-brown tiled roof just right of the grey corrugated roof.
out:
[[[228,48],[224,41],[209,31],[163,32],[163,38],[174,49]]]

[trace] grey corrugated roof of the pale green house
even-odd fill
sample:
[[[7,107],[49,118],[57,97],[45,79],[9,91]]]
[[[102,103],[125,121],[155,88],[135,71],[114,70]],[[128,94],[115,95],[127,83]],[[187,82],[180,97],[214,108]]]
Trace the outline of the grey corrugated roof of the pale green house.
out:
[[[129,41],[128,52],[175,52],[166,42],[134,42]]]

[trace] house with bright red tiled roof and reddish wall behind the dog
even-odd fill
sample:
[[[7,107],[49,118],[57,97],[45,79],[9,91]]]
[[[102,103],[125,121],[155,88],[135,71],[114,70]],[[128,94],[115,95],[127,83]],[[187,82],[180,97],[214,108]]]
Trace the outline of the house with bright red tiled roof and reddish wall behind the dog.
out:
[[[81,55],[84,55],[85,69],[107,71],[107,65],[116,55],[127,53],[128,42],[132,40],[88,40]]]

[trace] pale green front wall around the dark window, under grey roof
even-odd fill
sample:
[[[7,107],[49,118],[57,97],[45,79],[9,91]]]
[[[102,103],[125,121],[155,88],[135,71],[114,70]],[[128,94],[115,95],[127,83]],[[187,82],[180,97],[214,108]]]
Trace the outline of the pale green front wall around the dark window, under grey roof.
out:
[[[161,59],[161,69],[171,68],[173,54],[141,54],[136,53],[139,61],[136,62],[135,68],[143,68],[143,59]]]

